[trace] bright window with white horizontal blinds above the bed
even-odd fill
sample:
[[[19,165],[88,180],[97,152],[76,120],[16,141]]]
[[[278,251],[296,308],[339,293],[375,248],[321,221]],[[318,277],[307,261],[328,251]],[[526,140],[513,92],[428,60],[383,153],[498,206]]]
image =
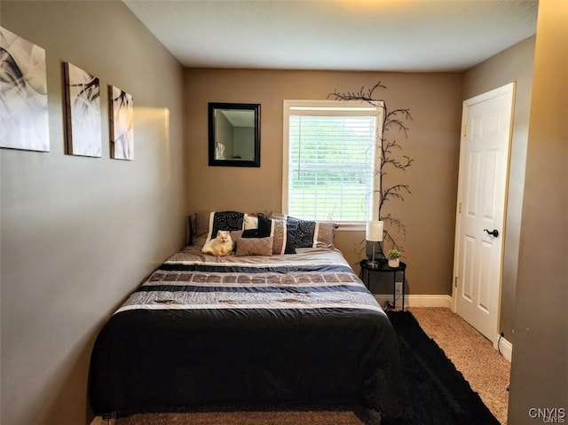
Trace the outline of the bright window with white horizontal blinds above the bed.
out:
[[[289,216],[355,224],[376,216],[383,108],[284,101],[283,205]]]

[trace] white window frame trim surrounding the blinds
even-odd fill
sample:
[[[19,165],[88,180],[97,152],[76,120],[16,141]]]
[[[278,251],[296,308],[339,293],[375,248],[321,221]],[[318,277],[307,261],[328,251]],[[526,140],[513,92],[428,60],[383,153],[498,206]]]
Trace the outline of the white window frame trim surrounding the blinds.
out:
[[[289,154],[290,154],[290,115],[291,112],[297,110],[305,111],[321,111],[321,115],[325,115],[329,112],[339,113],[348,112],[348,114],[337,114],[338,116],[346,115],[356,115],[356,116],[375,116],[375,165],[374,165],[374,184],[373,184],[373,201],[371,207],[371,216],[367,220],[377,219],[378,208],[380,201],[380,184],[381,184],[381,173],[377,169],[381,164],[381,149],[377,144],[379,144],[383,138],[383,122],[384,122],[384,103],[383,101],[376,102],[376,105],[372,105],[365,101],[350,101],[344,102],[341,100],[296,100],[296,99],[284,99],[283,101],[283,131],[282,131],[282,213],[288,214],[288,190],[289,190]],[[307,114],[307,115],[318,115]],[[360,231],[365,229],[367,220],[351,220],[351,221],[333,221],[337,224],[337,230],[343,231]],[[324,220],[319,220],[324,221]]]

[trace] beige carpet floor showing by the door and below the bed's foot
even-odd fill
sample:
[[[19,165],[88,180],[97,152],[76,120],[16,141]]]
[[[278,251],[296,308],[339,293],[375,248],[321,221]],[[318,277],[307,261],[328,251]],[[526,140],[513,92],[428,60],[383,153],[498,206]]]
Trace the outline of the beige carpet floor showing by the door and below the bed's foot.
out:
[[[446,352],[461,374],[477,391],[493,415],[507,423],[510,365],[493,345],[448,309],[409,309],[426,334]],[[102,421],[99,423],[103,423]],[[116,425],[362,425],[352,412],[213,412],[135,414]]]

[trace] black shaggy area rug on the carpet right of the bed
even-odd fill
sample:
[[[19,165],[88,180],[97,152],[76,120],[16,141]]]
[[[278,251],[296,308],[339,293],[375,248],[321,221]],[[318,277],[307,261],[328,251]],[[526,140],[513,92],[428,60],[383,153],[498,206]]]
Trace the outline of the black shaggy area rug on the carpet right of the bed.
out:
[[[499,425],[477,392],[409,311],[387,311],[398,334],[404,425]]]

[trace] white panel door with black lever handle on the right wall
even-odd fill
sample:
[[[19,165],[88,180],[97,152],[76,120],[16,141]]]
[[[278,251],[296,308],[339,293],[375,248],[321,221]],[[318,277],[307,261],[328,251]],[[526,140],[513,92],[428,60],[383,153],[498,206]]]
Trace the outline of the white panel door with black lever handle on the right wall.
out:
[[[454,248],[455,311],[499,334],[501,264],[515,83],[463,102]]]

